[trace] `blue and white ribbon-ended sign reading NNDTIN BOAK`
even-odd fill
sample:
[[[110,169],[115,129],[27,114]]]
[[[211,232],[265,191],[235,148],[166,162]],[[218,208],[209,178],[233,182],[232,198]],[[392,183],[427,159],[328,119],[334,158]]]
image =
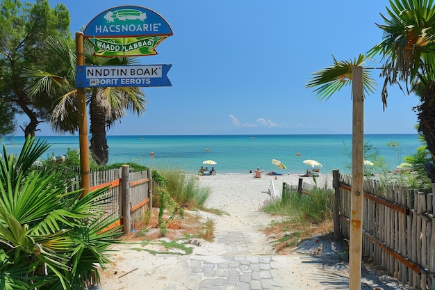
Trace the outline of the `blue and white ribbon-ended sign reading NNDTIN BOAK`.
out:
[[[167,87],[172,65],[77,65],[77,88]]]

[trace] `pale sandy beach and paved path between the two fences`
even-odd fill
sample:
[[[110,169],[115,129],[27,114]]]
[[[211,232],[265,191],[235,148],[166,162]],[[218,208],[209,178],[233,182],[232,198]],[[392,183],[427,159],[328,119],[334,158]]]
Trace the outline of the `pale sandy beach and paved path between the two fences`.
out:
[[[214,241],[181,241],[192,248],[192,253],[176,255],[148,251],[163,250],[158,243],[145,245],[137,239],[126,239],[126,243],[113,248],[112,263],[101,271],[101,284],[92,289],[348,289],[349,268],[340,256],[345,249],[331,239],[331,234],[315,236],[290,254],[279,255],[263,233],[272,221],[279,220],[260,210],[272,198],[270,191],[274,188],[279,196],[283,182],[297,185],[299,178],[303,179],[304,189],[315,186],[313,177],[298,175],[198,177],[201,186],[211,188],[206,207],[227,213],[189,213],[214,221]],[[320,175],[315,180],[319,187],[332,188],[331,175]],[[408,288],[363,266],[361,289]]]

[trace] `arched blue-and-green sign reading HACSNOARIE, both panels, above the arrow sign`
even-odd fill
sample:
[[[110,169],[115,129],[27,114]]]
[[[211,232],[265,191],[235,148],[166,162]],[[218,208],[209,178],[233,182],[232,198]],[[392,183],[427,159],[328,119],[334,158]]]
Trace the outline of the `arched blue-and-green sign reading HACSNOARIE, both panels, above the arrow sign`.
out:
[[[158,13],[140,6],[118,6],[97,15],[83,33],[97,56],[151,56],[172,35]]]

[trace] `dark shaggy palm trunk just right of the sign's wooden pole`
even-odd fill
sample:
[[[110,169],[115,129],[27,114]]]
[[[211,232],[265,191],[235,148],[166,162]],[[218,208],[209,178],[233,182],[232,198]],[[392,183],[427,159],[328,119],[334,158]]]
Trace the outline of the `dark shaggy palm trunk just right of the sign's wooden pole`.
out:
[[[106,138],[106,115],[104,108],[98,106],[95,97],[90,101],[90,152],[98,165],[106,165],[108,162],[108,145]]]

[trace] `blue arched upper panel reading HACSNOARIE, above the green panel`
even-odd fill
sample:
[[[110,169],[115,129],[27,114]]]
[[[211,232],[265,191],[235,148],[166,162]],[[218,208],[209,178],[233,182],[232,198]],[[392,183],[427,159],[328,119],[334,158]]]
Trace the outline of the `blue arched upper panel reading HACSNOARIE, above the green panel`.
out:
[[[85,38],[170,36],[171,26],[154,10],[141,6],[117,6],[103,11],[86,26]]]

